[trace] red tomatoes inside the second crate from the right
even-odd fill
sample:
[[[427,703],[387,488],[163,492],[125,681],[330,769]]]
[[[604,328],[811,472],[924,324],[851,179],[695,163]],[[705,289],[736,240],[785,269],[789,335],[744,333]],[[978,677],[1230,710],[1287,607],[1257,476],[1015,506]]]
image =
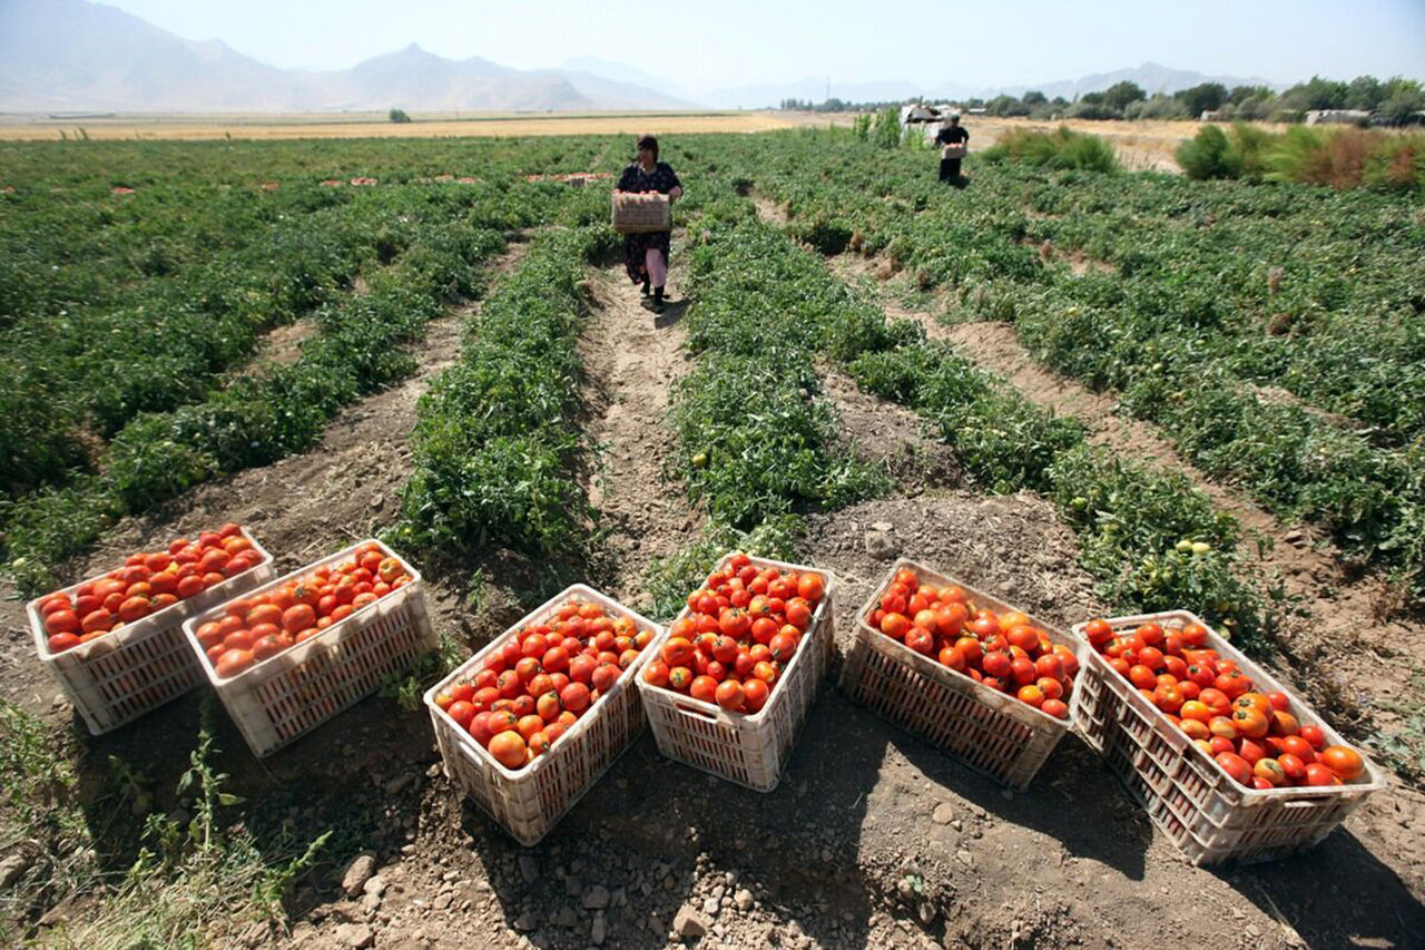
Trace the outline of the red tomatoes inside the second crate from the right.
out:
[[[1054,719],[1069,717],[1079,660],[1067,646],[1052,643],[1026,613],[976,608],[960,588],[936,589],[902,568],[866,622],[982,686]]]

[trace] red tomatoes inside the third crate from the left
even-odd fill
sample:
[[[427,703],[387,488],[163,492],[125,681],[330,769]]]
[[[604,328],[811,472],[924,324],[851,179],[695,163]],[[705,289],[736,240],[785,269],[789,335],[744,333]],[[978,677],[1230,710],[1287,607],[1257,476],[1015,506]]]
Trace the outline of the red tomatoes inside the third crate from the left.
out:
[[[435,702],[496,762],[523,769],[613,689],[651,639],[633,618],[570,598],[513,632],[473,679],[452,683]]]

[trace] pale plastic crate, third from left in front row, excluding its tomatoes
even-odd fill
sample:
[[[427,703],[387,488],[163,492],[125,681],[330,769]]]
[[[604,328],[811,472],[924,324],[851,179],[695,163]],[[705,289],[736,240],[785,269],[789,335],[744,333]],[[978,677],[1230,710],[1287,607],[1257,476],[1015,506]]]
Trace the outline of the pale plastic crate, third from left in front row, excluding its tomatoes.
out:
[[[571,596],[591,601],[610,613],[630,618],[640,630],[651,630],[653,640],[624,670],[613,689],[600,696],[549,752],[523,769],[507,769],[490,755],[489,749],[457,726],[436,705],[435,696],[450,683],[473,675],[490,653],[504,646],[512,635],[540,622]],[[446,776],[516,842],[526,847],[537,843],[643,732],[643,705],[633,683],[644,662],[653,656],[653,645],[661,632],[663,628],[653,620],[581,583],[532,611],[426,692],[426,708],[430,710],[430,723],[436,730]]]

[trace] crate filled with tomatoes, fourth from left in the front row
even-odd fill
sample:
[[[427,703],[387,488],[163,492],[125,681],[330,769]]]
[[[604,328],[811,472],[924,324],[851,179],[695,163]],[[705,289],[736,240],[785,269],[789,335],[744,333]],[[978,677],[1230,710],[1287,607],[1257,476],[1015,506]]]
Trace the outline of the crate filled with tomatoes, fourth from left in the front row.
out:
[[[638,678],[658,750],[771,792],[835,649],[829,571],[724,556]]]

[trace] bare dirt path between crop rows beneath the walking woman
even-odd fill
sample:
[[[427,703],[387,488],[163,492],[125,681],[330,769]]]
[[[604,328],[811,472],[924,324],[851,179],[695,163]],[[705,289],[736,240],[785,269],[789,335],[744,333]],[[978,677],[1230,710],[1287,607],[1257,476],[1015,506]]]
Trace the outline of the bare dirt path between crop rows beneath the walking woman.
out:
[[[681,233],[674,237],[681,242]],[[613,579],[611,596],[640,611],[651,606],[641,583],[648,562],[685,549],[701,523],[681,485],[664,476],[674,451],[664,418],[673,384],[688,369],[681,349],[688,301],[680,294],[687,265],[680,251],[674,248],[668,277],[674,300],[658,315],[643,305],[621,262],[596,272],[579,344],[590,407],[584,429],[598,458],[589,499],[607,532],[607,565],[596,573]]]

